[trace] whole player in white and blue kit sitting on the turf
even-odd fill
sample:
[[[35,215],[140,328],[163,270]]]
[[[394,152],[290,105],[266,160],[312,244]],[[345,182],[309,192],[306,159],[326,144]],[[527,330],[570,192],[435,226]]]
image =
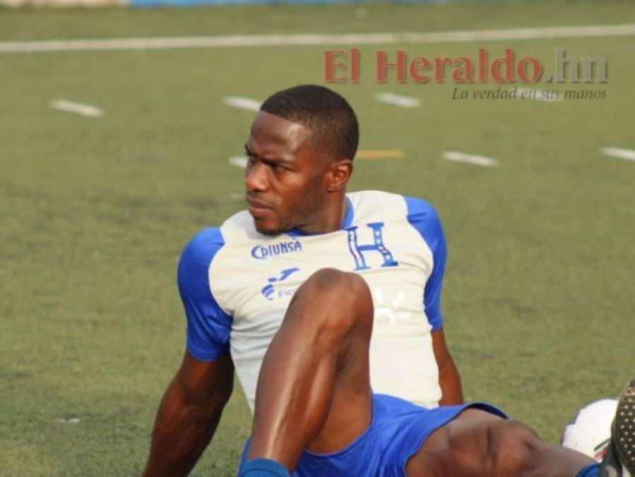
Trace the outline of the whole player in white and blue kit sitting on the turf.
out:
[[[439,219],[419,199],[346,194],[357,141],[355,113],[327,88],[263,103],[246,144],[249,211],[200,232],[179,263],[187,351],[144,475],[191,470],[236,369],[254,411],[240,476],[598,476],[497,408],[461,404],[441,332]],[[618,415],[631,394],[635,382]],[[626,477],[633,418],[615,422],[604,470]]]

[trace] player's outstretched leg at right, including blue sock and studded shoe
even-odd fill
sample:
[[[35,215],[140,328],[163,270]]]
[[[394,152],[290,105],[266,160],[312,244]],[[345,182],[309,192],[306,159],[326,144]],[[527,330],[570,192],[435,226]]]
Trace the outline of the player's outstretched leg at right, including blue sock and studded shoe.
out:
[[[635,476],[635,379],[619,398],[601,469],[593,463],[583,454],[540,442],[524,425],[468,409],[434,431],[406,471],[408,477]]]

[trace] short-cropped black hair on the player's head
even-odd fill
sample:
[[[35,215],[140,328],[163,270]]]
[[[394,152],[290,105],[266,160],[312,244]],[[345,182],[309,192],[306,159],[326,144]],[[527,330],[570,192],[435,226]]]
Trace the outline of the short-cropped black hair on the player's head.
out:
[[[311,132],[309,143],[335,158],[352,160],[360,142],[355,112],[341,95],[317,85],[299,85],[269,96],[261,111],[302,124]]]

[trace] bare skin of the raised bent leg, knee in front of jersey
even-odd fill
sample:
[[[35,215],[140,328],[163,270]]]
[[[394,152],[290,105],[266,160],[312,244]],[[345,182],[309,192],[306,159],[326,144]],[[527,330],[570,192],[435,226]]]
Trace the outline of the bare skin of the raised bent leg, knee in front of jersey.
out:
[[[263,360],[249,459],[295,469],[304,449],[342,449],[372,420],[372,296],[354,273],[322,269],[297,290]]]

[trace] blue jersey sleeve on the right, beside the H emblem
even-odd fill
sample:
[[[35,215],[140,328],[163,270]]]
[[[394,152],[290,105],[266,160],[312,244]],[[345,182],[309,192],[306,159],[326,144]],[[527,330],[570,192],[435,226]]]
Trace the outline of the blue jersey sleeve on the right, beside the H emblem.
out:
[[[420,233],[432,250],[432,273],[425,284],[423,305],[432,331],[443,326],[441,317],[441,285],[446,266],[446,239],[437,211],[430,204],[414,197],[405,197],[408,206],[408,222]]]

